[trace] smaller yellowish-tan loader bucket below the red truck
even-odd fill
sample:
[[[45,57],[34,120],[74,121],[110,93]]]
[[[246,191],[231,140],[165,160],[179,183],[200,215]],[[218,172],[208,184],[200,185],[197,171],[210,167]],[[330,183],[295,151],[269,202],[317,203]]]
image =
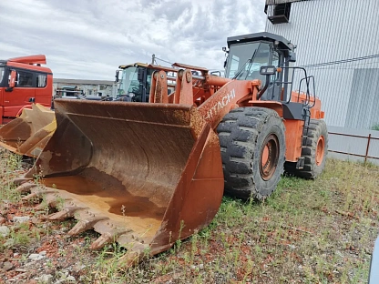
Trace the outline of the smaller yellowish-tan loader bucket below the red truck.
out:
[[[56,130],[54,111],[39,104],[0,128],[0,146],[20,155],[37,157]]]

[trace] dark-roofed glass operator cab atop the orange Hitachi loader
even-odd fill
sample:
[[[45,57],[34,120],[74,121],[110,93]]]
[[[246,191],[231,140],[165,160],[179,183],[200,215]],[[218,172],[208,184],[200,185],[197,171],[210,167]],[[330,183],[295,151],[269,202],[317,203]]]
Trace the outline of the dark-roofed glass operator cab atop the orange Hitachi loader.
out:
[[[228,37],[229,51],[225,61],[225,74],[230,79],[261,80],[261,88],[267,87],[261,100],[286,100],[290,62],[295,62],[294,46],[280,35],[258,33]],[[261,74],[262,66],[284,67],[268,78]],[[276,85],[276,86],[274,86]],[[283,95],[282,97],[282,88]]]

